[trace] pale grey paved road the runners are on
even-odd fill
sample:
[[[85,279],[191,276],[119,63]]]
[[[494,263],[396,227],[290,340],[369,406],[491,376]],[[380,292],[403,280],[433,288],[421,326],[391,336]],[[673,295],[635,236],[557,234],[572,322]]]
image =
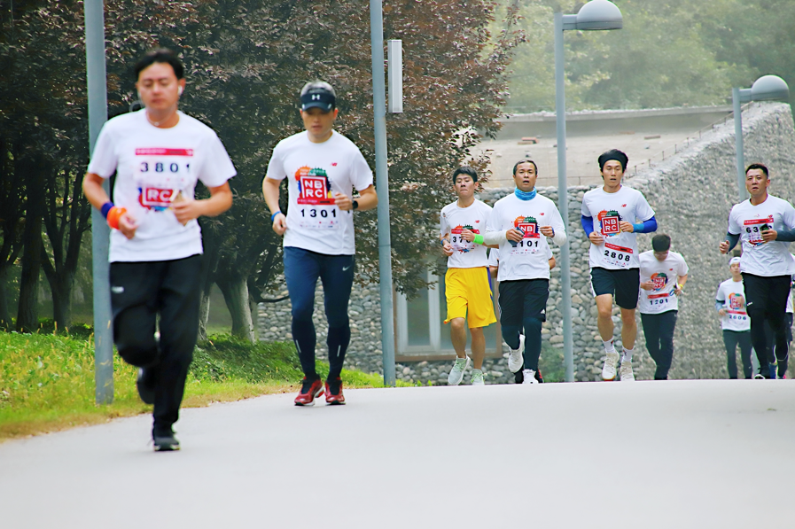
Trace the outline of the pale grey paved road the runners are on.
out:
[[[273,395],[0,445],[0,527],[795,527],[795,382]]]

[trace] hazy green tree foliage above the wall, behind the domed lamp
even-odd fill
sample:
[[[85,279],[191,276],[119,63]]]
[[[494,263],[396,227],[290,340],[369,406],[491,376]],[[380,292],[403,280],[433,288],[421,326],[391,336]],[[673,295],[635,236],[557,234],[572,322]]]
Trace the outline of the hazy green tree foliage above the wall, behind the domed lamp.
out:
[[[614,3],[623,29],[565,32],[569,110],[725,105],[731,87],[763,74],[795,82],[795,12],[787,0]],[[576,13],[583,2],[517,4],[527,39],[517,49],[508,110],[552,111],[553,13]]]

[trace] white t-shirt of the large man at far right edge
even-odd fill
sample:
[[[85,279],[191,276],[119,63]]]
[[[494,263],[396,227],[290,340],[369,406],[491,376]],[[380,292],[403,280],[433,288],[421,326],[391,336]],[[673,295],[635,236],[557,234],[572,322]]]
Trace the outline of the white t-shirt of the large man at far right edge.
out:
[[[790,243],[762,240],[765,229],[795,229],[795,208],[782,198],[768,195],[757,206],[744,200],[731,208],[729,233],[740,236],[743,254],[740,271],[754,276],[791,276],[795,263],[790,254]]]

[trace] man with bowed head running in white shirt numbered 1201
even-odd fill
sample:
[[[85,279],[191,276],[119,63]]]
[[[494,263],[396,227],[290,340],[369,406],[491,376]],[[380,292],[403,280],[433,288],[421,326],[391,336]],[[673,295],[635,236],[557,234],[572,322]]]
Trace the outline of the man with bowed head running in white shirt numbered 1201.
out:
[[[651,251],[640,254],[640,304],[646,349],[657,364],[655,380],[666,380],[674,359],[674,327],[679,296],[688,280],[688,265],[681,253],[671,252],[671,237],[651,237]],[[621,362],[621,381],[635,380],[630,361]]]

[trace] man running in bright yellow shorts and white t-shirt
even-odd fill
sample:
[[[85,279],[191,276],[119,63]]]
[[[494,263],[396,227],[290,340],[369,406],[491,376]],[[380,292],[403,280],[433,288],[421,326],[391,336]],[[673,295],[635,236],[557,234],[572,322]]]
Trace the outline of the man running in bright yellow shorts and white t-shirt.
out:
[[[472,335],[472,385],[485,385],[483,357],[486,338],[483,328],[495,323],[494,301],[488,280],[488,257],[483,245],[491,219],[491,207],[475,199],[478,173],[472,167],[458,167],[453,173],[456,202],[444,206],[440,216],[441,245],[448,256],[444,277],[448,301],[450,339],[456,350],[456,361],[448,376],[449,385],[459,385],[469,367],[466,355],[466,328]]]

